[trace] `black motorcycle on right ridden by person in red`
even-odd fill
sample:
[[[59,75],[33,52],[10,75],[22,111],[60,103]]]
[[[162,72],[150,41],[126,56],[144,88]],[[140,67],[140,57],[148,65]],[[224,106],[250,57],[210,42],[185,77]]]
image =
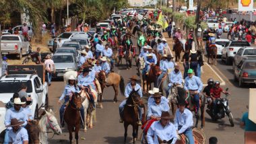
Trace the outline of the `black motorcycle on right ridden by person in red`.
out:
[[[228,88],[226,88],[226,92],[228,92]],[[218,119],[222,119],[226,115],[228,118],[228,121],[230,122],[231,127],[234,127],[233,115],[229,109],[227,97],[228,97],[228,94],[225,94],[225,98],[216,99],[216,104],[217,104],[216,115],[214,114],[213,106],[208,106],[206,112],[211,116],[212,120],[214,121]]]

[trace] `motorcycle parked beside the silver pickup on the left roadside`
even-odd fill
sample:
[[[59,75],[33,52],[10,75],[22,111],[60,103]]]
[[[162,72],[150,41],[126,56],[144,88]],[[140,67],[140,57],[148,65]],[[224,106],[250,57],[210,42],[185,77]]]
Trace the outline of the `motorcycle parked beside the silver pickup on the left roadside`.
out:
[[[47,55],[52,55],[51,52],[41,52],[40,56],[41,56],[41,62],[44,62],[44,59]],[[29,61],[32,61],[36,64],[39,64],[39,60],[38,60],[38,52],[32,52],[30,50],[30,52],[28,52],[28,55],[25,57],[25,59],[22,61],[22,65],[25,65],[26,63],[28,63]]]

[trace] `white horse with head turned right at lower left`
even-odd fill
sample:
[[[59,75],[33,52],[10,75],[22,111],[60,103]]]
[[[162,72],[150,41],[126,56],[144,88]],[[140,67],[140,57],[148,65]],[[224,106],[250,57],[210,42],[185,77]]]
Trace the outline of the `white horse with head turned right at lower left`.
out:
[[[57,118],[53,115],[53,111],[50,110],[50,112],[47,112],[46,110],[41,111],[42,114],[40,114],[41,118],[38,122],[38,127],[40,128],[39,133],[39,141],[40,143],[47,144],[48,136],[47,133],[49,133],[49,129],[53,131],[53,133],[57,135],[61,135],[61,127],[59,127]]]

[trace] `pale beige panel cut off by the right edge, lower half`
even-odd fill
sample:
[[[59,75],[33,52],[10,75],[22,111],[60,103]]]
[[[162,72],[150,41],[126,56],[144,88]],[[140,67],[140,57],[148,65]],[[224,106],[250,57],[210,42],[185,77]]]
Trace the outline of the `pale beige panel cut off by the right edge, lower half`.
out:
[[[256,123],[256,89],[249,89],[249,119]]]

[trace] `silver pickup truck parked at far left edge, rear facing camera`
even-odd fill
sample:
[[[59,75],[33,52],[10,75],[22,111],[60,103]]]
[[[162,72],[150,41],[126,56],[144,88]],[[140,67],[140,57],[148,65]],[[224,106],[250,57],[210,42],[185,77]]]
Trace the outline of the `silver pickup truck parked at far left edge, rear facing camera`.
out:
[[[17,55],[22,59],[22,55],[28,54],[32,49],[30,42],[22,35],[6,34],[1,36],[1,55]]]

